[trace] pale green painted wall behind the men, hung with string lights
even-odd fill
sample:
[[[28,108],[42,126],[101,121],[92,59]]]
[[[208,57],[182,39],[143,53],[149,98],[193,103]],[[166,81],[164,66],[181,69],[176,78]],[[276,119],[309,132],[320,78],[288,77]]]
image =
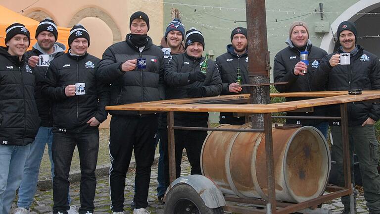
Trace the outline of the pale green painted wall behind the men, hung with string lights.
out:
[[[310,39],[313,45],[319,47],[322,39],[315,37],[321,37],[323,34],[315,33],[315,25],[318,25],[321,21],[332,23],[336,17],[358,1],[266,0],[268,49],[271,52],[271,64],[273,65],[272,61],[275,54],[286,47],[285,40],[288,38],[289,25],[293,21],[302,20],[308,23]],[[216,56],[226,52],[226,46],[231,43],[231,31],[238,26],[246,27],[246,22],[234,23],[234,20],[246,20],[245,9],[241,9],[245,8],[245,0],[164,0],[164,2],[164,31],[166,28],[165,23],[171,21],[171,8],[178,8],[186,29],[195,27],[203,33],[205,37],[205,51],[213,50],[215,54],[214,59]],[[324,3],[324,10],[327,12],[324,20],[321,20],[319,13],[313,13],[314,9],[319,11],[319,2]],[[219,7],[240,9],[220,9]],[[194,11],[195,9],[196,11]],[[310,13],[309,15],[307,15],[308,12]],[[276,19],[278,22],[276,22]]]

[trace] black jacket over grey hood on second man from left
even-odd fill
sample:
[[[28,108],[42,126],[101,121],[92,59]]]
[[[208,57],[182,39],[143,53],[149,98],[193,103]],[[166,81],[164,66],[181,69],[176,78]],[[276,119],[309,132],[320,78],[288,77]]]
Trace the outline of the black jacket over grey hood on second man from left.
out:
[[[33,48],[32,50],[25,53],[25,60],[28,60],[31,56],[39,56],[41,53],[39,50]],[[64,52],[57,53],[54,58],[65,54]],[[45,79],[47,73],[47,67],[36,66],[32,68],[36,73],[36,104],[38,109],[38,114],[41,118],[41,126],[52,127],[53,126],[53,115],[51,112],[51,102],[47,97],[41,94],[42,81]]]

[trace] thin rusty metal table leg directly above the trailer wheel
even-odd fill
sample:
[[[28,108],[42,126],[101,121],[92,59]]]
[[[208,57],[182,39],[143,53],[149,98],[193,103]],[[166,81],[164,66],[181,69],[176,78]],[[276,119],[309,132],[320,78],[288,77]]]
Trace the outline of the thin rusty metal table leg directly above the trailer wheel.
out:
[[[168,117],[168,156],[169,156],[169,179],[172,183],[176,179],[176,150],[174,144],[174,112],[169,111]]]

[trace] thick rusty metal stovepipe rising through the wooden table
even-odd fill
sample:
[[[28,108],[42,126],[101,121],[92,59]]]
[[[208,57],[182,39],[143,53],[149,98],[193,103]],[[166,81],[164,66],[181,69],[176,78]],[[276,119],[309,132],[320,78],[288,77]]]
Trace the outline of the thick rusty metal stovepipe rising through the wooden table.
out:
[[[265,0],[246,0],[248,30],[248,76],[250,84],[269,83],[270,64],[267,43]],[[251,104],[270,102],[269,86],[251,87]],[[252,128],[262,128],[263,114],[252,115]]]

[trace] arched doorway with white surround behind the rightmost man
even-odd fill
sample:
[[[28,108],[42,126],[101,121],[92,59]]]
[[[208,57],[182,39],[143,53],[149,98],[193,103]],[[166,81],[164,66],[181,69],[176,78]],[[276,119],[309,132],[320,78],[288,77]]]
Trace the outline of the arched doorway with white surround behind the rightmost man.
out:
[[[360,0],[349,7],[332,22],[331,27],[334,35],[336,34],[338,25],[345,20],[352,21],[356,24],[359,37],[378,36],[379,28],[375,26],[380,25],[380,0]],[[357,44],[363,46],[365,50],[373,54],[380,55],[380,37],[358,38]],[[332,33],[326,33],[322,39],[321,48],[328,53],[332,53],[334,45]]]

